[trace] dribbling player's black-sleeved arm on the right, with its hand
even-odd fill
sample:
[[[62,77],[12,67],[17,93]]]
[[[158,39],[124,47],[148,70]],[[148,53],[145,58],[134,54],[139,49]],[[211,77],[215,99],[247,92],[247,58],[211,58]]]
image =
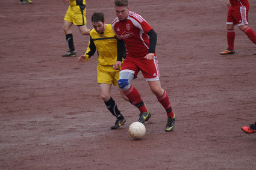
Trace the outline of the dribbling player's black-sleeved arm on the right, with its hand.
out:
[[[149,36],[149,49],[148,54],[144,58],[151,60],[155,56],[155,46],[157,46],[157,33],[155,33],[154,29],[151,29],[147,34]]]

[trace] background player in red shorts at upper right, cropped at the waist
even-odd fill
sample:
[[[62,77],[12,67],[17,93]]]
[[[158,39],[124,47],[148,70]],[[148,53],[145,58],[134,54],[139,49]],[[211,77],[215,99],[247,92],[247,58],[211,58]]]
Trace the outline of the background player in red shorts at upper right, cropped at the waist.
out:
[[[226,2],[226,7],[228,10],[228,17],[226,22],[226,27],[228,29],[226,38],[228,40],[228,49],[220,52],[220,55],[233,54],[234,50],[234,40],[235,40],[235,31],[234,25],[238,25],[239,29],[248,36],[252,42],[256,44],[256,34],[249,28],[248,25],[248,11],[249,11],[249,2],[248,0],[228,0]],[[254,52],[256,55],[256,52]]]

